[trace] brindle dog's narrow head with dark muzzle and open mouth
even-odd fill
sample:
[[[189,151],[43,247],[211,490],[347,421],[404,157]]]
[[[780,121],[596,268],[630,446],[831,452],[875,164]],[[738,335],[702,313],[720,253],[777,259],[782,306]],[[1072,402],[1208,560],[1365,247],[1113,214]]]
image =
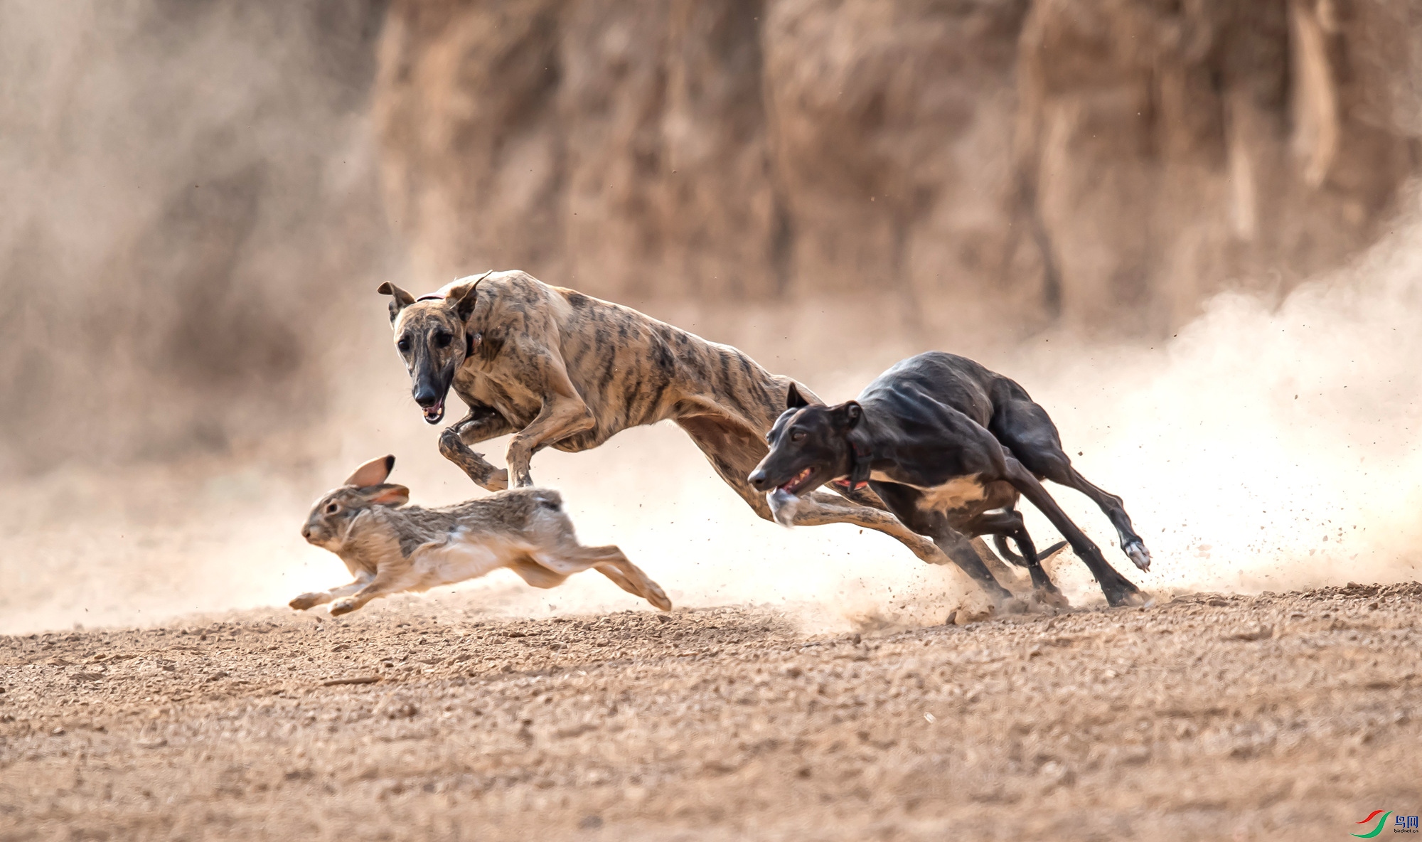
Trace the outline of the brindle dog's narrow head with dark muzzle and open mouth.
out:
[[[479,300],[479,282],[449,287],[444,296],[415,299],[398,286],[385,282],[380,293],[390,299],[390,324],[395,330],[395,348],[410,371],[410,385],[415,403],[425,412],[425,422],[438,424],[444,418],[444,401],[454,383],[454,373],[479,347],[479,333],[469,329],[469,316]]]

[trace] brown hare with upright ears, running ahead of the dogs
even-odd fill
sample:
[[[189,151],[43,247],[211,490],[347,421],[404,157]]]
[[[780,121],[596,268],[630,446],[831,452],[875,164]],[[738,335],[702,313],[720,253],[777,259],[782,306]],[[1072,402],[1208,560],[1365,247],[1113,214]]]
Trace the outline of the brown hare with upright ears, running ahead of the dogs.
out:
[[[371,459],[316,502],[301,528],[307,542],[338,555],[356,580],[303,593],[301,610],[331,602],[346,614],[405,590],[429,590],[508,567],[533,587],[556,587],[596,567],[619,587],[661,610],[671,600],[616,546],[582,546],[563,498],[546,488],[501,491],[438,509],[405,505],[410,489],[385,482],[395,457]]]

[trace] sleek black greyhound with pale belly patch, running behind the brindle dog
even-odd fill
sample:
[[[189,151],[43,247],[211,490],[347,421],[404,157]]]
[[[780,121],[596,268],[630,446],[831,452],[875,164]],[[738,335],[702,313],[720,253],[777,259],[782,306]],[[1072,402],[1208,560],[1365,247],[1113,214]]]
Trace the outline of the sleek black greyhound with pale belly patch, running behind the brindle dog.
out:
[[[1106,602],[1146,602],[1062,512],[1038,476],[1092,498],[1121,533],[1122,550],[1148,570],[1150,553],[1130,528],[1121,498],[1071,467],[1052,420],[1021,385],[973,360],[937,351],[910,357],[865,387],[859,400],[836,407],[811,404],[792,387],[785,412],[765,439],[771,452],[748,479],[758,491],[774,489],[774,508],[793,512],[801,495],[825,482],[846,489],[867,484],[906,526],[931,538],[995,600],[1011,593],[988,572],[970,538],[1011,538],[1032,586],[1055,596],[1057,587],[1014,511],[1022,494],[1091,567]]]

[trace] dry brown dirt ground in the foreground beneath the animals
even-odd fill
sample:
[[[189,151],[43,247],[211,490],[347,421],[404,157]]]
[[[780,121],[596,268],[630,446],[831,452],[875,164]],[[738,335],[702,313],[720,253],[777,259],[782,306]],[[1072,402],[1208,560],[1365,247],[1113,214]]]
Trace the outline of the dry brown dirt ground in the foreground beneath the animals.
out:
[[[1415,583],[836,636],[461,599],[0,639],[0,839],[1347,839],[1422,811]]]

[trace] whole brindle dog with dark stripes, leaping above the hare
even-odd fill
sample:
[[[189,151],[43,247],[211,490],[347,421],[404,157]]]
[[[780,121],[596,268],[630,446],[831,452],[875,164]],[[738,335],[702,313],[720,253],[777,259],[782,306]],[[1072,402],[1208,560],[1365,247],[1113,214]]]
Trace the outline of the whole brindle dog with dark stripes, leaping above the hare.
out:
[[[629,427],[671,420],[755,513],[771,519],[747,476],[768,452],[765,434],[785,410],[789,377],[729,346],[523,272],[461,279],[419,300],[390,283],[380,292],[392,296],[395,343],[425,420],[444,417],[451,385],[471,407],[439,437],[439,451],[478,485],[498,491],[509,475],[469,448],[481,441],[513,432],[508,471],[526,486],[529,459],[542,448],[584,451]],[[867,489],[806,495],[793,522],[856,523],[894,536],[924,562],[948,560]]]

